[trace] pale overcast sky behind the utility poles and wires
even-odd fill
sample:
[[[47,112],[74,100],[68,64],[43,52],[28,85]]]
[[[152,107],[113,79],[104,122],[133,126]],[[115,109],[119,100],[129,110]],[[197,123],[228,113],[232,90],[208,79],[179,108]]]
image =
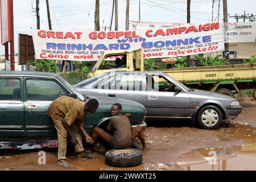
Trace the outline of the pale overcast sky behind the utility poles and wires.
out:
[[[243,11],[256,15],[256,0],[227,0],[230,16],[242,15]],[[40,28],[48,30],[46,1],[39,1]],[[36,0],[13,0],[15,53],[18,52],[18,34],[31,35],[36,29]],[[95,0],[49,0],[52,30],[94,31]],[[100,28],[110,27],[113,0],[100,0]],[[118,30],[125,30],[126,0],[118,0]],[[216,14],[214,14],[216,16]],[[114,30],[114,16],[112,31]],[[220,0],[220,20],[223,19]],[[139,0],[130,0],[130,20],[139,20]],[[212,0],[191,0],[191,23],[205,23],[212,20]],[[143,22],[187,22],[187,0],[141,0],[141,21]],[[240,22],[243,20],[240,19]],[[248,21],[248,20],[246,20]],[[236,22],[229,18],[228,22]],[[108,29],[107,29],[108,30]],[[5,47],[0,46],[0,55]]]

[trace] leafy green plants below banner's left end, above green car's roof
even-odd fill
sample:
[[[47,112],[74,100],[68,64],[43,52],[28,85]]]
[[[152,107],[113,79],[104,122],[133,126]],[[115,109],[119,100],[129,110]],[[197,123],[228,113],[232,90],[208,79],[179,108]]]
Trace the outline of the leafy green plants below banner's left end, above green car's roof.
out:
[[[35,71],[38,72],[53,72],[56,73],[58,67],[55,64],[55,60],[40,59],[38,61],[29,61],[29,65],[35,67]]]

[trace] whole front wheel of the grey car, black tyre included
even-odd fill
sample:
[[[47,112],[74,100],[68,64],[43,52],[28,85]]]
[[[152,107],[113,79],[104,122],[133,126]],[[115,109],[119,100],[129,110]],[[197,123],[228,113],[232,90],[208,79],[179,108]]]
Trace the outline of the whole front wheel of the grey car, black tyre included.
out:
[[[223,115],[216,106],[204,106],[197,114],[197,122],[203,129],[217,129],[222,122]]]

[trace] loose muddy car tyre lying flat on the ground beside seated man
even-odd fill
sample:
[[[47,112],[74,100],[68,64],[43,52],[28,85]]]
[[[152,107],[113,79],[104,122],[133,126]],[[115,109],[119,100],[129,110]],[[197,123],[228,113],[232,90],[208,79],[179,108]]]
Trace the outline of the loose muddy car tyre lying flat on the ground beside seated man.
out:
[[[135,148],[113,149],[105,154],[106,164],[113,167],[132,167],[142,163],[142,151]]]

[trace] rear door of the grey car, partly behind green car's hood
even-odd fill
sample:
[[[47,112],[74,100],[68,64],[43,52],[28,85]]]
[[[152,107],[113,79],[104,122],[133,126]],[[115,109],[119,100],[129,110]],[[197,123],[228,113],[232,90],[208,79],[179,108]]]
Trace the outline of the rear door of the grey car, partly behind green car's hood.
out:
[[[105,87],[105,96],[124,98],[146,105],[146,83],[139,73],[116,73]]]

